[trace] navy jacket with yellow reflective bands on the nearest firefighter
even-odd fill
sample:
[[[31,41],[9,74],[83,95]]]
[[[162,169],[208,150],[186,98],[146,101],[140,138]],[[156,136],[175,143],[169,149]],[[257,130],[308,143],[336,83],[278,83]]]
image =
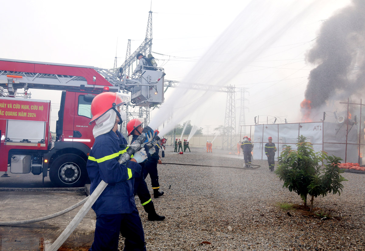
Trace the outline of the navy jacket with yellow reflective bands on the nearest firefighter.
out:
[[[119,144],[127,144],[127,140],[119,131],[110,131],[97,136],[90,151],[86,165],[91,180],[90,193],[101,180],[108,183],[92,206],[95,213],[132,213],[136,208],[133,178],[141,174],[141,165],[132,161],[119,164],[119,155],[123,152]]]

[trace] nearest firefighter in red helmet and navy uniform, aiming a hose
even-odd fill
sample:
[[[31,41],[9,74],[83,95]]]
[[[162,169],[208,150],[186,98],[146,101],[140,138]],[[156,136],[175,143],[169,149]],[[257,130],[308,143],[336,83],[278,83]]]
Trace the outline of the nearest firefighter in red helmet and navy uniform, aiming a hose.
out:
[[[119,233],[125,239],[125,250],[145,251],[145,235],[141,218],[135,205],[133,181],[141,175],[141,165],[147,158],[144,148],[135,152],[129,161],[120,163],[120,144],[127,140],[117,130],[126,121],[126,112],[119,106],[129,101],[122,93],[103,92],[91,103],[92,120],[95,123],[95,143],[89,153],[87,171],[91,180],[92,194],[103,180],[108,185],[92,206],[96,213],[94,242],[89,249],[118,250]],[[152,140],[153,137],[149,137]]]

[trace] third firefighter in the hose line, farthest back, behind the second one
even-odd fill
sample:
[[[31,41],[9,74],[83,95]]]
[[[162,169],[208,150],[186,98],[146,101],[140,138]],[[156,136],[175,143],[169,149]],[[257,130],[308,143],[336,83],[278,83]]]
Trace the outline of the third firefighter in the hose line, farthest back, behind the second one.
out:
[[[160,151],[160,146],[155,145],[155,152],[153,154],[148,154],[148,160],[145,164],[145,170],[143,171],[143,178],[146,178],[148,174],[150,174],[151,185],[153,189],[153,197],[158,198],[164,194],[164,192],[158,192],[160,189],[160,183],[158,183],[158,171],[157,164],[161,164],[161,158],[158,155]]]

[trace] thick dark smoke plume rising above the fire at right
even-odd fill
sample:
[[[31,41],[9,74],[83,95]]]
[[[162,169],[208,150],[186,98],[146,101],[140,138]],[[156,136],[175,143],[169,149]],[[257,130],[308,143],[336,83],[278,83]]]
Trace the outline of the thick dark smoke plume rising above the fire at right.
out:
[[[342,99],[364,88],[365,1],[353,0],[327,19],[307,61],[311,70],[305,99],[320,108],[330,99]]]

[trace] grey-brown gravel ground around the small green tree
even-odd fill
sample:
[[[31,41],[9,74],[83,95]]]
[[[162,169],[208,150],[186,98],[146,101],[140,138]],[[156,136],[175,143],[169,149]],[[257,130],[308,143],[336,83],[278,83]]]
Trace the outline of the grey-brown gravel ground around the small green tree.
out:
[[[163,162],[242,167],[243,158],[215,150],[192,149],[183,155],[166,149]],[[321,220],[278,204],[302,204],[269,171],[266,160],[254,170],[158,165],[164,196],[152,199],[164,221],[148,221],[136,204],[147,250],[365,250],[365,175],[343,173],[341,196],[314,200],[315,210],[334,218]],[[147,186],[151,189],[149,177]],[[171,187],[170,187],[171,186]],[[288,212],[291,216],[288,215]],[[120,250],[124,247],[120,238]]]

